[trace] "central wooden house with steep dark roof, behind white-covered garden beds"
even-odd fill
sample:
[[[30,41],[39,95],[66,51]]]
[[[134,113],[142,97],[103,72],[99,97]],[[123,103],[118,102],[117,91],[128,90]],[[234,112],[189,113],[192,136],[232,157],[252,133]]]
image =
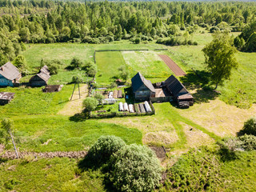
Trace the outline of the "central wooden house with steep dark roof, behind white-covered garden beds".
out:
[[[135,100],[146,101],[155,97],[154,86],[150,80],[146,80],[140,72],[135,74],[131,82]]]

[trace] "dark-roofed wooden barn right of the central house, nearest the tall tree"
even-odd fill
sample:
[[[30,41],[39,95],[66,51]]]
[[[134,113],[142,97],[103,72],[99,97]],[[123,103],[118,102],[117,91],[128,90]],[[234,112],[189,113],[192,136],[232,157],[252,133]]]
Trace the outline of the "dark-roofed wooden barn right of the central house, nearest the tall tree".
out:
[[[177,100],[178,103],[189,102],[190,106],[194,104],[193,96],[186,90],[186,87],[174,77],[174,75],[167,78],[164,85],[166,86],[166,89],[170,91],[170,94],[174,95],[174,99]]]

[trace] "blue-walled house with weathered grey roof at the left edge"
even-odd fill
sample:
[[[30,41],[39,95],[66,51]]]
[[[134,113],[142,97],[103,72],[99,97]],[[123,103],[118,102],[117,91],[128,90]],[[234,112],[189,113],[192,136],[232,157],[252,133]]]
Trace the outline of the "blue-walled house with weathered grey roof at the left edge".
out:
[[[20,78],[22,78],[22,74],[10,62],[0,66],[0,86],[14,86]]]

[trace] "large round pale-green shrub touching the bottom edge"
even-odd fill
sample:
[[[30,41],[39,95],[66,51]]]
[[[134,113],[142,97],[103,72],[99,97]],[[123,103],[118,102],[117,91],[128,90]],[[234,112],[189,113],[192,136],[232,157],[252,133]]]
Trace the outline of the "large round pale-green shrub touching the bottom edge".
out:
[[[110,181],[118,191],[151,191],[162,178],[152,150],[136,144],[124,146],[111,157]]]

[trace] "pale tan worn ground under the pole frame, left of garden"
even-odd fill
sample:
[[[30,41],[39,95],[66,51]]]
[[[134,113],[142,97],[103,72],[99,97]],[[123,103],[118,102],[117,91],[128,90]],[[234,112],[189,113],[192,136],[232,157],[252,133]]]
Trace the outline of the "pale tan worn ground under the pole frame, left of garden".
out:
[[[72,101],[66,103],[66,106],[62,110],[58,111],[58,114],[73,116],[82,112],[82,101],[86,98],[88,91],[87,85],[80,85],[81,98],[79,98],[78,88],[74,90]]]

